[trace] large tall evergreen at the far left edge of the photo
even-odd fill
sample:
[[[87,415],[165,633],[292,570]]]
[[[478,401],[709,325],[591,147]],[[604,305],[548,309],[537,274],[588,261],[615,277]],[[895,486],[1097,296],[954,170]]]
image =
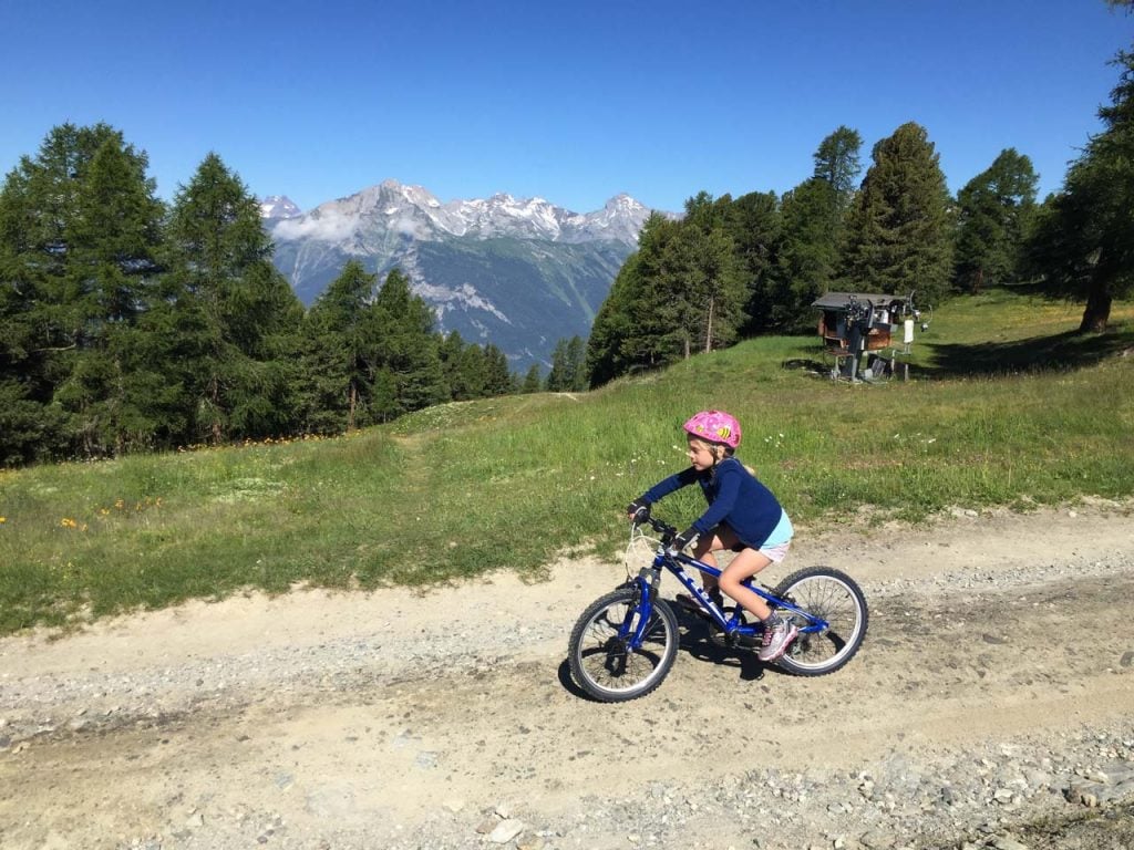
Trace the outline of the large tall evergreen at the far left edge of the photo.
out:
[[[134,351],[162,207],[146,168],[118,130],[68,124],[0,190],[0,451],[9,458],[150,443],[161,382],[138,374],[149,364]]]

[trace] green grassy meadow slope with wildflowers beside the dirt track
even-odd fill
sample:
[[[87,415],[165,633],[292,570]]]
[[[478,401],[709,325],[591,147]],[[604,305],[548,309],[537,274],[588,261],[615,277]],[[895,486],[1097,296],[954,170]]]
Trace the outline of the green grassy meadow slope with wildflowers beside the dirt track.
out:
[[[832,383],[818,339],[767,338],[591,393],[446,405],[336,440],[0,473],[0,634],[243,588],[532,579],[611,555],[624,505],[683,466],[682,422],[735,413],[741,458],[806,533],[870,507],[1134,494],[1134,305],[1080,337],[1081,308],[996,291],[937,311],[914,377]],[[700,496],[667,500],[675,522]]]

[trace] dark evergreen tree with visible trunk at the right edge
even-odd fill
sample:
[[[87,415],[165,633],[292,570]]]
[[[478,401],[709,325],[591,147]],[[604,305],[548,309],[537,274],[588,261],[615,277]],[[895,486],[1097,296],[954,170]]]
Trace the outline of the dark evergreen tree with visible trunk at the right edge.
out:
[[[1134,290],[1134,53],[1119,51],[1103,129],[1044,204],[1029,240],[1031,267],[1052,291],[1086,301],[1081,331],[1103,331],[1116,297]]]

